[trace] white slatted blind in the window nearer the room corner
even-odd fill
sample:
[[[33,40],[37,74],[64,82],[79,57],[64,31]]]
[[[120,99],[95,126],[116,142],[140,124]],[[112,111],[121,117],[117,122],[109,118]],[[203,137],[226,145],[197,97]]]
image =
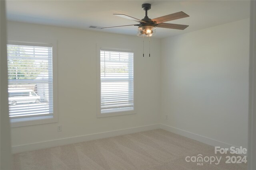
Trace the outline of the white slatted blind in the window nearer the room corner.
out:
[[[101,113],[134,110],[133,53],[100,51]]]

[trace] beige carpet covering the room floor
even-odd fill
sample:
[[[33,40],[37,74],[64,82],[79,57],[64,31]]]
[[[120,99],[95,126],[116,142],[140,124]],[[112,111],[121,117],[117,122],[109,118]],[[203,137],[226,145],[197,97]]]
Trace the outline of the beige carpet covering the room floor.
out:
[[[186,162],[186,156],[198,154],[222,156],[222,159],[218,165]],[[214,154],[214,147],[157,129],[14,154],[14,169],[246,170],[246,164],[226,164],[225,161],[226,155]]]

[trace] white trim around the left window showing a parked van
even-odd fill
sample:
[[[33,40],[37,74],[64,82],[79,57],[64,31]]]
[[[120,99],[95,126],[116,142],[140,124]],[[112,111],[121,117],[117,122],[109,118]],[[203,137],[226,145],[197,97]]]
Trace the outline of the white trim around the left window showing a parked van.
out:
[[[52,47],[52,90],[53,90],[53,116],[36,115],[33,118],[10,118],[11,127],[22,127],[29,125],[40,125],[46,123],[58,122],[58,77],[57,77],[57,41],[54,39],[34,38],[34,37],[21,37],[21,36],[8,36],[7,44],[22,44],[31,46],[45,46]]]

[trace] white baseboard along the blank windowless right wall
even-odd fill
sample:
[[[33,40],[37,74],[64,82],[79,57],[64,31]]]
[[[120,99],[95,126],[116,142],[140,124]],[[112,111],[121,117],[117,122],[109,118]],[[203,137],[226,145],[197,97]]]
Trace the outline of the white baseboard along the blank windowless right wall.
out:
[[[176,127],[171,127],[171,126],[168,126],[168,125],[159,124],[159,128],[164,129],[164,130],[169,131],[169,132],[172,132],[172,133],[176,133],[178,135],[182,135],[182,136],[190,138],[190,139],[194,139],[196,141],[205,143],[205,144],[213,146],[213,147],[221,147],[221,148],[236,147],[236,148],[239,148],[238,146],[234,146],[234,145],[231,145],[231,144],[228,144],[228,143],[217,141],[215,139],[204,137],[202,135],[198,135],[198,134],[195,134],[195,133],[184,131],[184,130],[178,129]],[[241,155],[243,155],[243,154],[241,154]]]

